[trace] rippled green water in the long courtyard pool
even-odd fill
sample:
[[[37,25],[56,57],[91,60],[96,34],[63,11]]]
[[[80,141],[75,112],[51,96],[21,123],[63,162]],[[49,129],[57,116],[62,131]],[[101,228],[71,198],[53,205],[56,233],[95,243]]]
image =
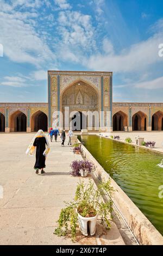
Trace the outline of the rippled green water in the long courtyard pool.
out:
[[[163,168],[157,166],[163,155],[96,135],[79,139],[163,235]]]

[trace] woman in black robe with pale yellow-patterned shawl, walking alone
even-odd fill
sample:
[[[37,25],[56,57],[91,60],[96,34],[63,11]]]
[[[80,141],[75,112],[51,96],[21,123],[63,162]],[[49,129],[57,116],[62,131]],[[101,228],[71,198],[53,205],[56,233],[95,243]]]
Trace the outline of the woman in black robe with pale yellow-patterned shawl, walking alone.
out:
[[[49,142],[46,138],[45,133],[42,130],[39,130],[35,137],[33,138],[32,142],[30,143],[26,154],[34,155],[36,148],[36,162],[34,169],[36,170],[36,174],[39,174],[39,169],[41,170],[41,174],[45,173],[43,168],[46,167],[45,160],[46,156],[49,152]]]

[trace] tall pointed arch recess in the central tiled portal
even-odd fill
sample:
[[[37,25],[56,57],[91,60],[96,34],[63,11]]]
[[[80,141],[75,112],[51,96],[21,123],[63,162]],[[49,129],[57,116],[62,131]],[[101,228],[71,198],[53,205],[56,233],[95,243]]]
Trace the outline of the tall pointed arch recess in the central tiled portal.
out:
[[[66,114],[67,108],[69,110],[69,117]],[[74,123],[74,125],[78,126],[77,129],[74,127],[75,130],[82,130],[82,128],[99,130],[99,95],[97,90],[90,84],[79,80],[67,87],[61,95],[61,111],[65,130],[68,129],[67,125],[70,127],[70,123],[73,126],[75,118],[80,120],[78,121],[80,123],[79,126]],[[95,113],[98,113],[98,115]],[[68,120],[65,120],[66,118]]]

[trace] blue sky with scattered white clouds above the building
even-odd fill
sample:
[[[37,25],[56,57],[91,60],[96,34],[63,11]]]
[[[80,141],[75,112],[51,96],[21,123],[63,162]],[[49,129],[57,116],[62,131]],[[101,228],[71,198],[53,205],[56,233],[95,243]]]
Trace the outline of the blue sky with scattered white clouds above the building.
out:
[[[114,101],[162,102],[163,1],[0,0],[0,102],[47,102],[47,70],[114,72]]]

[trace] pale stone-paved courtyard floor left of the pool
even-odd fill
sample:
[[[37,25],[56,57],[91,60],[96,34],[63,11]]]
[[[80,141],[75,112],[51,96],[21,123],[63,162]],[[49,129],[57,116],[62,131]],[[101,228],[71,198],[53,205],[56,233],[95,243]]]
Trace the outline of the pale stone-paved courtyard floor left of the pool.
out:
[[[77,182],[68,173],[70,163],[80,155],[71,148],[62,148],[59,142],[51,143],[47,157],[46,174],[36,175],[35,157],[25,154],[34,134],[1,134],[0,185],[0,245],[71,245],[70,239],[53,234],[64,200],[71,200]],[[91,178],[91,177],[90,177]],[[87,178],[86,178],[87,179]],[[78,233],[77,243],[83,245],[124,245],[114,223],[109,233],[97,225],[96,236],[85,237]]]

